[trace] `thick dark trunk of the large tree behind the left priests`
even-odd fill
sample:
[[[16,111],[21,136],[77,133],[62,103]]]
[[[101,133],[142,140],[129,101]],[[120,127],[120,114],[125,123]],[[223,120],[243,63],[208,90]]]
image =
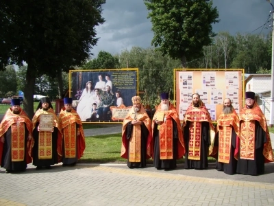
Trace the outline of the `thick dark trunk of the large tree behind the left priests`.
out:
[[[34,86],[36,78],[36,68],[32,62],[28,62],[26,73],[26,84],[24,93],[24,111],[27,113],[29,119],[34,116]]]

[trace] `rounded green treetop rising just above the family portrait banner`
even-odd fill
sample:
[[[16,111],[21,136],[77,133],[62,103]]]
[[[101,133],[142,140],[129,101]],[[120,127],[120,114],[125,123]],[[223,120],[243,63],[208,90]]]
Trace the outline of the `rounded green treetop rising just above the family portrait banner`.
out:
[[[119,67],[119,59],[104,51],[100,51],[97,58],[83,65],[83,69],[116,69],[116,67]]]

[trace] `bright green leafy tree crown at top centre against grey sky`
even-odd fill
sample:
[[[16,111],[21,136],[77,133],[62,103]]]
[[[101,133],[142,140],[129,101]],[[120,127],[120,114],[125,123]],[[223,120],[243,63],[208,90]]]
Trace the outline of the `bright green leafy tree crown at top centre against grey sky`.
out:
[[[212,23],[219,13],[212,1],[205,0],[144,0],[154,32],[151,45],[162,54],[178,58],[186,68],[186,60],[202,56],[204,45],[212,43]]]

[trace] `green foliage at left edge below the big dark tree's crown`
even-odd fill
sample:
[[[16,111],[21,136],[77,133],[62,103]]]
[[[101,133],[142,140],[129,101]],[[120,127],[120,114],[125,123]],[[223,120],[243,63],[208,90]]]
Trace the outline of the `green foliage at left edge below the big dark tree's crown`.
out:
[[[0,71],[0,82],[1,98],[12,97],[12,95],[16,94],[16,71],[13,65],[5,67],[5,71]]]

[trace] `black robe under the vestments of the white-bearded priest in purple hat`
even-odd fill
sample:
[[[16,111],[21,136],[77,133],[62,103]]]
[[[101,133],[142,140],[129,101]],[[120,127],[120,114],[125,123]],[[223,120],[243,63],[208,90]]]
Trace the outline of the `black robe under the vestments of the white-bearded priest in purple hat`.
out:
[[[176,159],[178,156],[178,130],[177,124],[174,119],[172,119],[173,124],[173,159],[160,159],[160,141],[159,141],[159,130],[158,124],[155,123],[153,130],[154,139],[154,157],[153,165],[158,170],[174,170],[176,168]]]

